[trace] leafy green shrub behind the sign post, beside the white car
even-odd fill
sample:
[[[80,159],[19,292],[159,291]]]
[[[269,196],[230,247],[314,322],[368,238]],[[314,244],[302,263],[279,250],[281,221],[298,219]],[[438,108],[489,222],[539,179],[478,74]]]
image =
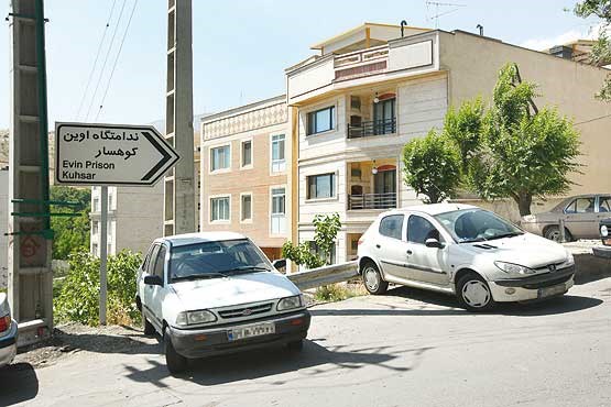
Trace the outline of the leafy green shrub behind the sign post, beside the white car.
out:
[[[142,256],[122,251],[108,257],[107,322],[140,323],[135,298],[135,274]],[[80,252],[69,256],[69,272],[55,298],[59,321],[76,321],[89,326],[99,323],[100,260]]]

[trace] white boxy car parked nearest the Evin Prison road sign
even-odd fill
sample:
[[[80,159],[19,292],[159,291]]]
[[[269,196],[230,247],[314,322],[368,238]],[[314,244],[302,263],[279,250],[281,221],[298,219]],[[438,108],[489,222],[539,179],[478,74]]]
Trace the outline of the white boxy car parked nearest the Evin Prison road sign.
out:
[[[138,273],[144,332],[162,336],[167,369],[272,344],[301,350],[310,316],[301,290],[248,238],[229,232],[157,239]]]

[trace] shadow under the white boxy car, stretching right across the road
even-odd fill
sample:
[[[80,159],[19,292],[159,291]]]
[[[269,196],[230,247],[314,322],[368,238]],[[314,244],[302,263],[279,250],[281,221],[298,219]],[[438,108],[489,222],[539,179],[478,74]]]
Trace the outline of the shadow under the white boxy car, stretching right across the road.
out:
[[[291,352],[285,348],[269,348],[253,352],[236,353],[218,358],[190,361],[188,371],[177,378],[203,386],[233,383],[244,380],[258,380],[283,373],[299,371],[301,376],[335,375],[341,370],[358,370],[368,365],[377,365],[392,372],[410,372],[421,363],[423,354],[433,348],[406,346],[368,346],[348,348],[347,345],[323,346],[305,340],[302,352]],[[396,363],[399,358],[405,359]],[[170,376],[163,363],[151,360],[150,367],[139,370],[126,365],[130,372],[128,377],[135,382],[153,383],[159,387],[167,387],[164,378]],[[275,380],[269,385],[283,385],[284,381]]]

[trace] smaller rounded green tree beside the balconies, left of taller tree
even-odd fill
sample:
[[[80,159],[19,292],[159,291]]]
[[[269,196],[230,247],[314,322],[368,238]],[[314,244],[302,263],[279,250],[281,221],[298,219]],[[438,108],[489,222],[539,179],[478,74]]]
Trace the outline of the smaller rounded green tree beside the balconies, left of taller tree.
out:
[[[460,184],[460,154],[444,133],[430,130],[425,138],[411,140],[403,147],[403,178],[426,204],[450,197]]]

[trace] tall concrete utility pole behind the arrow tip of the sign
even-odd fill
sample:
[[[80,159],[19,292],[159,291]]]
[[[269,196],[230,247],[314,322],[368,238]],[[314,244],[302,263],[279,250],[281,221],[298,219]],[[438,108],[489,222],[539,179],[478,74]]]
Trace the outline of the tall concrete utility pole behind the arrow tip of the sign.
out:
[[[192,0],[168,0],[165,138],[181,160],[164,178],[164,234],[195,232]]]

